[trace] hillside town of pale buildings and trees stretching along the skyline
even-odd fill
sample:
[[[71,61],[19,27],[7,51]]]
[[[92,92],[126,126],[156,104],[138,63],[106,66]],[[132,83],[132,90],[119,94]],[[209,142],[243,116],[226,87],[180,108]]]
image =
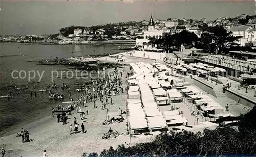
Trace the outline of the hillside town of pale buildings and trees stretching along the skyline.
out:
[[[61,28],[59,33],[51,35],[5,35],[0,36],[0,42],[20,43],[52,43],[52,44],[90,44],[94,41],[111,43],[112,41],[126,41],[135,43],[137,39],[161,38],[165,35],[179,34],[182,31],[194,33],[201,38],[210,28],[221,26],[226,31],[231,31],[232,36],[239,37],[236,43],[240,46],[254,48],[256,40],[256,16],[238,15],[237,17],[220,17],[214,21],[202,19],[175,19],[150,21],[129,21],[94,25],[91,27]],[[137,43],[137,42],[136,42]]]

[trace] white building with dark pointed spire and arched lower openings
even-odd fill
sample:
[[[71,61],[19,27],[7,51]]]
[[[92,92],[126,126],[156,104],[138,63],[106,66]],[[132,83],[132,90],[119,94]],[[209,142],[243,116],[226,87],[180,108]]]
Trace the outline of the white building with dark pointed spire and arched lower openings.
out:
[[[144,31],[144,34],[143,34],[144,39],[148,39],[148,38],[158,39],[158,38],[161,38],[162,36],[163,36],[163,31],[156,30],[155,22],[151,15],[150,22],[148,23],[148,30]]]

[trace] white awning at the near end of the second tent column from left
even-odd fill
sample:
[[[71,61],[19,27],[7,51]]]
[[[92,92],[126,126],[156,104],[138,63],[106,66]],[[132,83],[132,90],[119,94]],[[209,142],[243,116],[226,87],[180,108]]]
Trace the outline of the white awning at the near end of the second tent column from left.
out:
[[[151,129],[162,129],[166,128],[165,119],[162,116],[147,117],[148,127]]]

